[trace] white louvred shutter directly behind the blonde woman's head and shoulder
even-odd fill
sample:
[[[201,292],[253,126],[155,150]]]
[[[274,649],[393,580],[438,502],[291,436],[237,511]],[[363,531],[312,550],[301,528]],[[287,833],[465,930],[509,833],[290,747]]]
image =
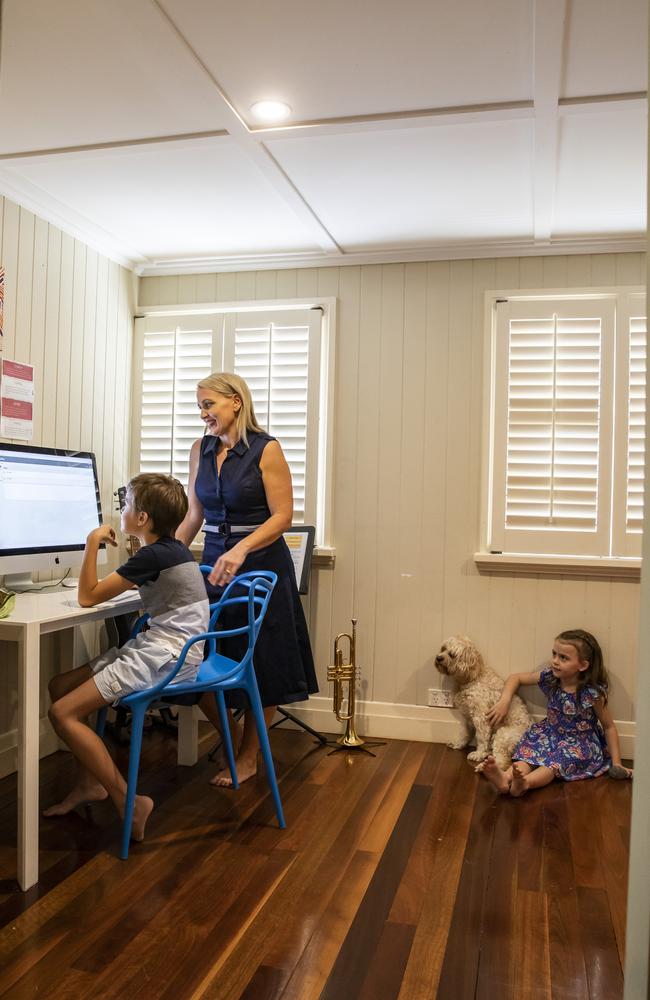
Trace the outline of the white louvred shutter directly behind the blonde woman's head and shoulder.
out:
[[[224,367],[248,383],[258,423],[282,446],[295,524],[315,523],[320,310],[228,314]]]

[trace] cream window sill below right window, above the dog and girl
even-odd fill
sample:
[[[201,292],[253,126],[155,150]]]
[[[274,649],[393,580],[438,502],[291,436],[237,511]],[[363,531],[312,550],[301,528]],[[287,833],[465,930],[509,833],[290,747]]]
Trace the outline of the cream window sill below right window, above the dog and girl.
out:
[[[585,577],[605,580],[641,579],[638,558],[604,559],[597,556],[514,555],[508,552],[475,552],[479,573],[490,576]]]

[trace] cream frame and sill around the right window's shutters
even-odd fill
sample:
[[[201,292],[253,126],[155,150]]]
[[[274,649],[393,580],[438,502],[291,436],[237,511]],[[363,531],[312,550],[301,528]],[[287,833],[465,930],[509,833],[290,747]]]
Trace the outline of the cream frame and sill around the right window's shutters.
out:
[[[615,300],[616,316],[615,342],[611,349],[612,364],[615,365],[612,386],[620,400],[624,394],[624,404],[612,410],[613,428],[611,431],[611,496],[606,506],[610,506],[609,524],[611,546],[607,554],[590,555],[580,551],[576,546],[573,551],[564,546],[565,551],[557,551],[550,547],[547,551],[526,552],[523,549],[501,550],[497,545],[490,544],[495,504],[503,506],[503,500],[496,501],[495,451],[497,445],[497,421],[507,420],[507,386],[503,387],[503,364],[507,366],[507,356],[504,359],[503,345],[499,344],[497,336],[497,303],[501,300],[530,301],[539,303],[543,300],[566,300],[567,303],[579,303],[580,299]],[[634,302],[644,303],[642,310],[633,309]],[[609,576],[611,578],[638,579],[641,556],[631,551],[630,544],[622,544],[629,538],[625,530],[617,531],[616,513],[614,508],[620,507],[621,497],[625,497],[627,478],[624,487],[618,487],[619,496],[615,497],[614,484],[620,475],[621,466],[627,463],[627,350],[629,338],[627,333],[621,335],[621,322],[630,315],[646,315],[645,288],[643,286],[587,287],[587,288],[544,288],[544,289],[499,289],[490,290],[484,296],[484,380],[483,380],[483,425],[482,425],[482,470],[481,470],[481,517],[479,551],[474,555],[474,561],[480,572],[515,575],[517,573],[540,573],[544,575],[575,575]],[[499,361],[501,368],[499,369]],[[507,370],[505,371],[507,377]],[[611,370],[610,370],[611,375]],[[501,378],[500,384],[497,380]],[[507,427],[505,428],[507,433]],[[625,472],[627,477],[627,472]],[[505,486],[504,486],[505,491]],[[505,496],[505,492],[504,492]],[[611,504],[610,504],[611,501]],[[619,518],[620,520],[620,518]],[[623,529],[625,525],[623,524]],[[571,534],[571,533],[569,533]],[[616,552],[614,555],[613,553]]]

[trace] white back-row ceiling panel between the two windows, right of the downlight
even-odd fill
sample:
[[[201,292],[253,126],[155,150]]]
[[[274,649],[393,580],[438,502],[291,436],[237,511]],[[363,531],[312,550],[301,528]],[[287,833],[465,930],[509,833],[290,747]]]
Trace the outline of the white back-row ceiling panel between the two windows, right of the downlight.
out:
[[[532,228],[529,121],[269,142],[346,250]]]

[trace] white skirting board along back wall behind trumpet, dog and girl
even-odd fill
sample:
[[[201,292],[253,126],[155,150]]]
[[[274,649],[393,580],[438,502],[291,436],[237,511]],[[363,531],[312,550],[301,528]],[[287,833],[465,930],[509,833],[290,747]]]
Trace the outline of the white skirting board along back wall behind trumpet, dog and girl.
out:
[[[312,697],[308,702],[284,706],[319,733],[341,733],[343,723],[336,721],[332,699]],[[423,743],[453,743],[460,731],[459,714],[452,708],[428,708],[425,705],[391,705],[382,701],[358,701],[356,729],[361,736],[392,740],[417,740]],[[536,721],[543,719],[534,714]],[[287,727],[291,722],[284,723]],[[633,722],[616,722],[621,739],[621,753],[634,759]]]

